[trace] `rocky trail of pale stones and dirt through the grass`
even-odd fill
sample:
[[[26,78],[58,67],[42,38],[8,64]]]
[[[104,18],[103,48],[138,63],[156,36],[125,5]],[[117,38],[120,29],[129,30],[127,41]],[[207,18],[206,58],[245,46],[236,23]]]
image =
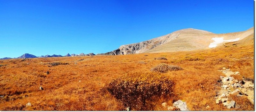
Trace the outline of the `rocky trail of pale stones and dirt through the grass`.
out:
[[[230,69],[222,68],[218,70],[225,76],[220,76],[221,90],[218,92],[219,96],[216,103],[222,103],[223,106],[229,108],[236,107],[236,101],[228,99],[230,94],[236,95],[236,97],[246,96],[252,104],[254,104],[254,84],[251,81],[241,80],[238,81],[231,75],[240,75],[239,72],[233,72]]]

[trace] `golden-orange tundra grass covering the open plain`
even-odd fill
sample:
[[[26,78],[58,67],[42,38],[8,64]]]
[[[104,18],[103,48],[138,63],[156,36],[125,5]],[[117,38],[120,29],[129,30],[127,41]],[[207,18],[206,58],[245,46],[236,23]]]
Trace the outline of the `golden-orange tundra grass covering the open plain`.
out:
[[[223,76],[218,69],[230,68],[240,72],[237,79],[254,81],[253,50],[251,44],[190,52],[0,60],[6,64],[0,67],[0,110],[124,110],[122,101],[102,88],[118,77],[150,72],[160,63],[183,70],[163,73],[175,83],[173,96],[158,98],[147,110],[167,110],[161,103],[172,105],[175,100],[186,101],[190,110],[254,110],[246,97],[229,96],[239,106],[231,109],[214,98],[221,88],[217,80]],[[159,57],[167,60],[155,60]],[[68,64],[52,66],[53,62]],[[28,102],[31,107],[25,106]]]

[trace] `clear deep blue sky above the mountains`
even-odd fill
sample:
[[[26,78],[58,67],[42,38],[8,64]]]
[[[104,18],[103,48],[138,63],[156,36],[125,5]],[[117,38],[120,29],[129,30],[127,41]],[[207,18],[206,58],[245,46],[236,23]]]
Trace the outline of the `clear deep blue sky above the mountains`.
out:
[[[253,0],[0,0],[0,58],[105,53],[183,28],[254,25]]]

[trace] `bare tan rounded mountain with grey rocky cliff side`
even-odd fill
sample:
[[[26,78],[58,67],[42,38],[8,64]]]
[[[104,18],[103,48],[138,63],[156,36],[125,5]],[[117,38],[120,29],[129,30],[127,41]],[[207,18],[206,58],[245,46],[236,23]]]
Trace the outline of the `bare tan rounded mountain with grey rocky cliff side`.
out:
[[[122,45],[114,51],[101,53],[101,55],[124,55],[142,52],[154,53],[209,49],[209,45],[214,42],[214,40],[212,40],[214,37],[217,37],[217,39],[223,39],[225,43],[226,41],[232,41],[230,39],[241,40],[244,37],[252,35],[253,32],[254,28],[250,28],[242,32],[227,34],[214,34],[212,32],[193,28],[181,29],[148,41]]]

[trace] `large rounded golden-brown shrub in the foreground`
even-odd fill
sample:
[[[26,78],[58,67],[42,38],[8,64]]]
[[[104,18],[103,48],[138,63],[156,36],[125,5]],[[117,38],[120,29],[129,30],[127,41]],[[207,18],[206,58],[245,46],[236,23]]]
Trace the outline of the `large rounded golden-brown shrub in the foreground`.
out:
[[[132,73],[113,79],[106,89],[125,107],[150,110],[154,101],[173,95],[174,82],[160,73]]]

